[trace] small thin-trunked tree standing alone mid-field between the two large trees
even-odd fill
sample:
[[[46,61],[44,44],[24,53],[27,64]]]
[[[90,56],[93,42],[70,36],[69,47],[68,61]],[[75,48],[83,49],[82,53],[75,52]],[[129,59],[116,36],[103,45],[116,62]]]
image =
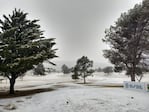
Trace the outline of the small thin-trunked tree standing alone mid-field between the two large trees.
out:
[[[77,75],[83,77],[84,84],[86,83],[86,77],[90,76],[93,73],[91,67],[93,67],[93,61],[89,60],[88,57],[82,56],[80,59],[77,60],[75,72],[77,73]]]

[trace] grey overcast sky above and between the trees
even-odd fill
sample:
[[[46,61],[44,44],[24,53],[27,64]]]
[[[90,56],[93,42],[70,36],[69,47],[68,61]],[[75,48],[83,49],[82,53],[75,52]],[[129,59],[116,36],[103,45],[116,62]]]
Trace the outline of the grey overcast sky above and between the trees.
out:
[[[76,61],[88,56],[96,63],[107,64],[102,42],[104,31],[142,0],[0,0],[0,18],[14,8],[28,12],[30,19],[40,19],[46,37],[56,38],[58,59]]]

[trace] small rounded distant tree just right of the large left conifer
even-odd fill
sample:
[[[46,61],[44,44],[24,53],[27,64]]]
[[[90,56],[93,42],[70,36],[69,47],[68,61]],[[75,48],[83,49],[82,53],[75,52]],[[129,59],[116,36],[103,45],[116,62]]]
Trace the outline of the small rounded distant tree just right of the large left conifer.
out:
[[[42,63],[39,63],[34,69],[35,75],[45,75],[45,68]]]

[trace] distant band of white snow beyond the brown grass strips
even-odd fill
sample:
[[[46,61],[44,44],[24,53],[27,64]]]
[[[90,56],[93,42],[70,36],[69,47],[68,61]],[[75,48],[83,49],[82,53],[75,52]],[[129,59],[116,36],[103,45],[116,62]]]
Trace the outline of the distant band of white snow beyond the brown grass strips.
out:
[[[0,77],[1,79],[2,77]],[[122,85],[123,81],[130,81],[130,77],[126,76],[125,73],[113,73],[111,75],[106,75],[104,73],[94,73],[93,76],[87,77],[87,82],[93,85]],[[52,73],[46,76],[34,76],[32,73],[28,73],[23,78],[18,78],[15,84],[15,89],[34,89],[43,88],[53,84],[74,82],[71,79],[71,74],[63,73]],[[78,80],[78,82],[83,82],[83,80]],[[142,82],[149,82],[149,74],[145,74]],[[9,89],[9,81],[7,79],[0,82],[0,91]]]

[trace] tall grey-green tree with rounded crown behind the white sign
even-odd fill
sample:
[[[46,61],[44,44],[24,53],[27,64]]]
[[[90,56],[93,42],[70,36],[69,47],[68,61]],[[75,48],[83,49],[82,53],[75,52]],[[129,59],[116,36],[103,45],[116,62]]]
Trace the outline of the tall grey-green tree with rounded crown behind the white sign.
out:
[[[135,81],[148,69],[149,55],[149,1],[144,0],[127,13],[121,14],[115,25],[106,30],[103,39],[111,49],[104,56],[115,65],[115,70],[126,70]]]

